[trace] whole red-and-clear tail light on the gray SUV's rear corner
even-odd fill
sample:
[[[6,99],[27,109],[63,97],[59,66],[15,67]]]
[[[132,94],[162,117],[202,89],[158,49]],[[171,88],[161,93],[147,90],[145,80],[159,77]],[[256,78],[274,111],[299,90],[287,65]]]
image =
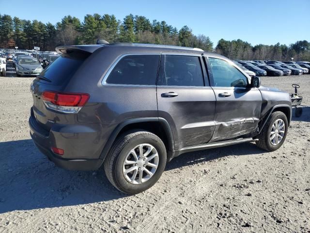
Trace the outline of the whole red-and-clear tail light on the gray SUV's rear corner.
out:
[[[89,100],[90,95],[85,93],[62,93],[44,91],[42,99],[47,108],[62,113],[78,113]]]

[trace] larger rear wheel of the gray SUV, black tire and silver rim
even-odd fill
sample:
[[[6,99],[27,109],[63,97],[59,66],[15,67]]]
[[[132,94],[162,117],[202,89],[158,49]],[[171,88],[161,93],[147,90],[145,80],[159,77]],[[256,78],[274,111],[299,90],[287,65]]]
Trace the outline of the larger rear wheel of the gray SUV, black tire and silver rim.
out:
[[[167,152],[162,140],[147,131],[130,131],[119,136],[104,162],[110,183],[126,194],[152,187],[163,173]]]

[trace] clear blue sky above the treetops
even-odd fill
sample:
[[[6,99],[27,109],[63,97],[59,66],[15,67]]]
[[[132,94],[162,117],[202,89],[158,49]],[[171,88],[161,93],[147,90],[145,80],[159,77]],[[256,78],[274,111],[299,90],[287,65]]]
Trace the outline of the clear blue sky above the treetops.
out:
[[[13,4],[14,2],[14,4]],[[152,22],[165,20],[178,30],[209,36],[216,46],[221,38],[256,44],[310,41],[310,0],[0,0],[0,14],[56,24],[71,15],[83,21],[87,14],[130,13]]]

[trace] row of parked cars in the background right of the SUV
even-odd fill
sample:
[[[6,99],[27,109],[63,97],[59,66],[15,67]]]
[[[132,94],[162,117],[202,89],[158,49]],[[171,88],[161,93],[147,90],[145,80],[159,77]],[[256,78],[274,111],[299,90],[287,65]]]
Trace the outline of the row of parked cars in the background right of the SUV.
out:
[[[310,62],[300,61],[243,61],[234,60],[250,76],[283,76],[308,74]]]

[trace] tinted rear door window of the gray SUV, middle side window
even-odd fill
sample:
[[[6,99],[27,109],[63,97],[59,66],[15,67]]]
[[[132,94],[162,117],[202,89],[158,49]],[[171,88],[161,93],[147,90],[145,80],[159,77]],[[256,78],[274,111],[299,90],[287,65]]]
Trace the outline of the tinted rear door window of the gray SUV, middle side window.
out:
[[[166,55],[163,85],[204,86],[202,66],[197,56]]]

